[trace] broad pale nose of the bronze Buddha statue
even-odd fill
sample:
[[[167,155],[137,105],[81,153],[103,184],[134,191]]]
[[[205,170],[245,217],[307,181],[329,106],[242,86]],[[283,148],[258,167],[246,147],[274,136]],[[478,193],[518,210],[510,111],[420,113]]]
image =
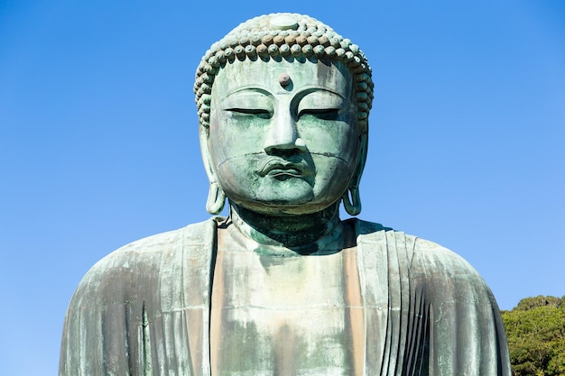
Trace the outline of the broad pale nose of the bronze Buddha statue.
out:
[[[273,118],[264,141],[264,151],[267,154],[306,151],[306,143],[299,137],[292,115]]]

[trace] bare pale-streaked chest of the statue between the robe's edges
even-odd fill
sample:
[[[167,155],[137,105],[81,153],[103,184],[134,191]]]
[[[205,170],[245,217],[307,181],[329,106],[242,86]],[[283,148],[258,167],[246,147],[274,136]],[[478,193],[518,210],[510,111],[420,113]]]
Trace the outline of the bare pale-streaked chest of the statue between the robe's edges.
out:
[[[353,250],[281,257],[218,248],[211,304],[214,375],[351,375]],[[355,294],[354,294],[355,295]]]

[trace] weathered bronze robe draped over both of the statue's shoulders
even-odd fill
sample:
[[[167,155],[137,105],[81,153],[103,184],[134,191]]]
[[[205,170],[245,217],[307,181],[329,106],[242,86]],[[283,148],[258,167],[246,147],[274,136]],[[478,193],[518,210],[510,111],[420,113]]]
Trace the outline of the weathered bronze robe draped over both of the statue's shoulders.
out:
[[[350,317],[356,375],[510,376],[495,298],[467,261],[346,222],[357,247],[342,252],[356,252],[362,306]],[[69,305],[60,376],[210,376],[217,227],[218,218],[157,234],[98,261]]]

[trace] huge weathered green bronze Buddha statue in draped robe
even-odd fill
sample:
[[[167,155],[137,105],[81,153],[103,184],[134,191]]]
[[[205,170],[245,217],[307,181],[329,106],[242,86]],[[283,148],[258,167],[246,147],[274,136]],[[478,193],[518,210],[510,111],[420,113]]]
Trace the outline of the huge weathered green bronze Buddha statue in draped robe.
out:
[[[329,26],[269,14],[214,43],[194,86],[229,216],[125,245],[88,271],[60,376],[510,375],[496,301],[467,261],[355,218],[373,97]]]

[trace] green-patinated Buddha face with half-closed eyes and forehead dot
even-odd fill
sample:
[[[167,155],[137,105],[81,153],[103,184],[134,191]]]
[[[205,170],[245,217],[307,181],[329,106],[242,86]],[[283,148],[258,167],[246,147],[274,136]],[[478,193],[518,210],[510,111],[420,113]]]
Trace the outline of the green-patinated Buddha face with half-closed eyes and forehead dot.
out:
[[[352,85],[340,62],[245,60],[220,69],[204,154],[227,197],[275,216],[338,201],[360,149]]]

